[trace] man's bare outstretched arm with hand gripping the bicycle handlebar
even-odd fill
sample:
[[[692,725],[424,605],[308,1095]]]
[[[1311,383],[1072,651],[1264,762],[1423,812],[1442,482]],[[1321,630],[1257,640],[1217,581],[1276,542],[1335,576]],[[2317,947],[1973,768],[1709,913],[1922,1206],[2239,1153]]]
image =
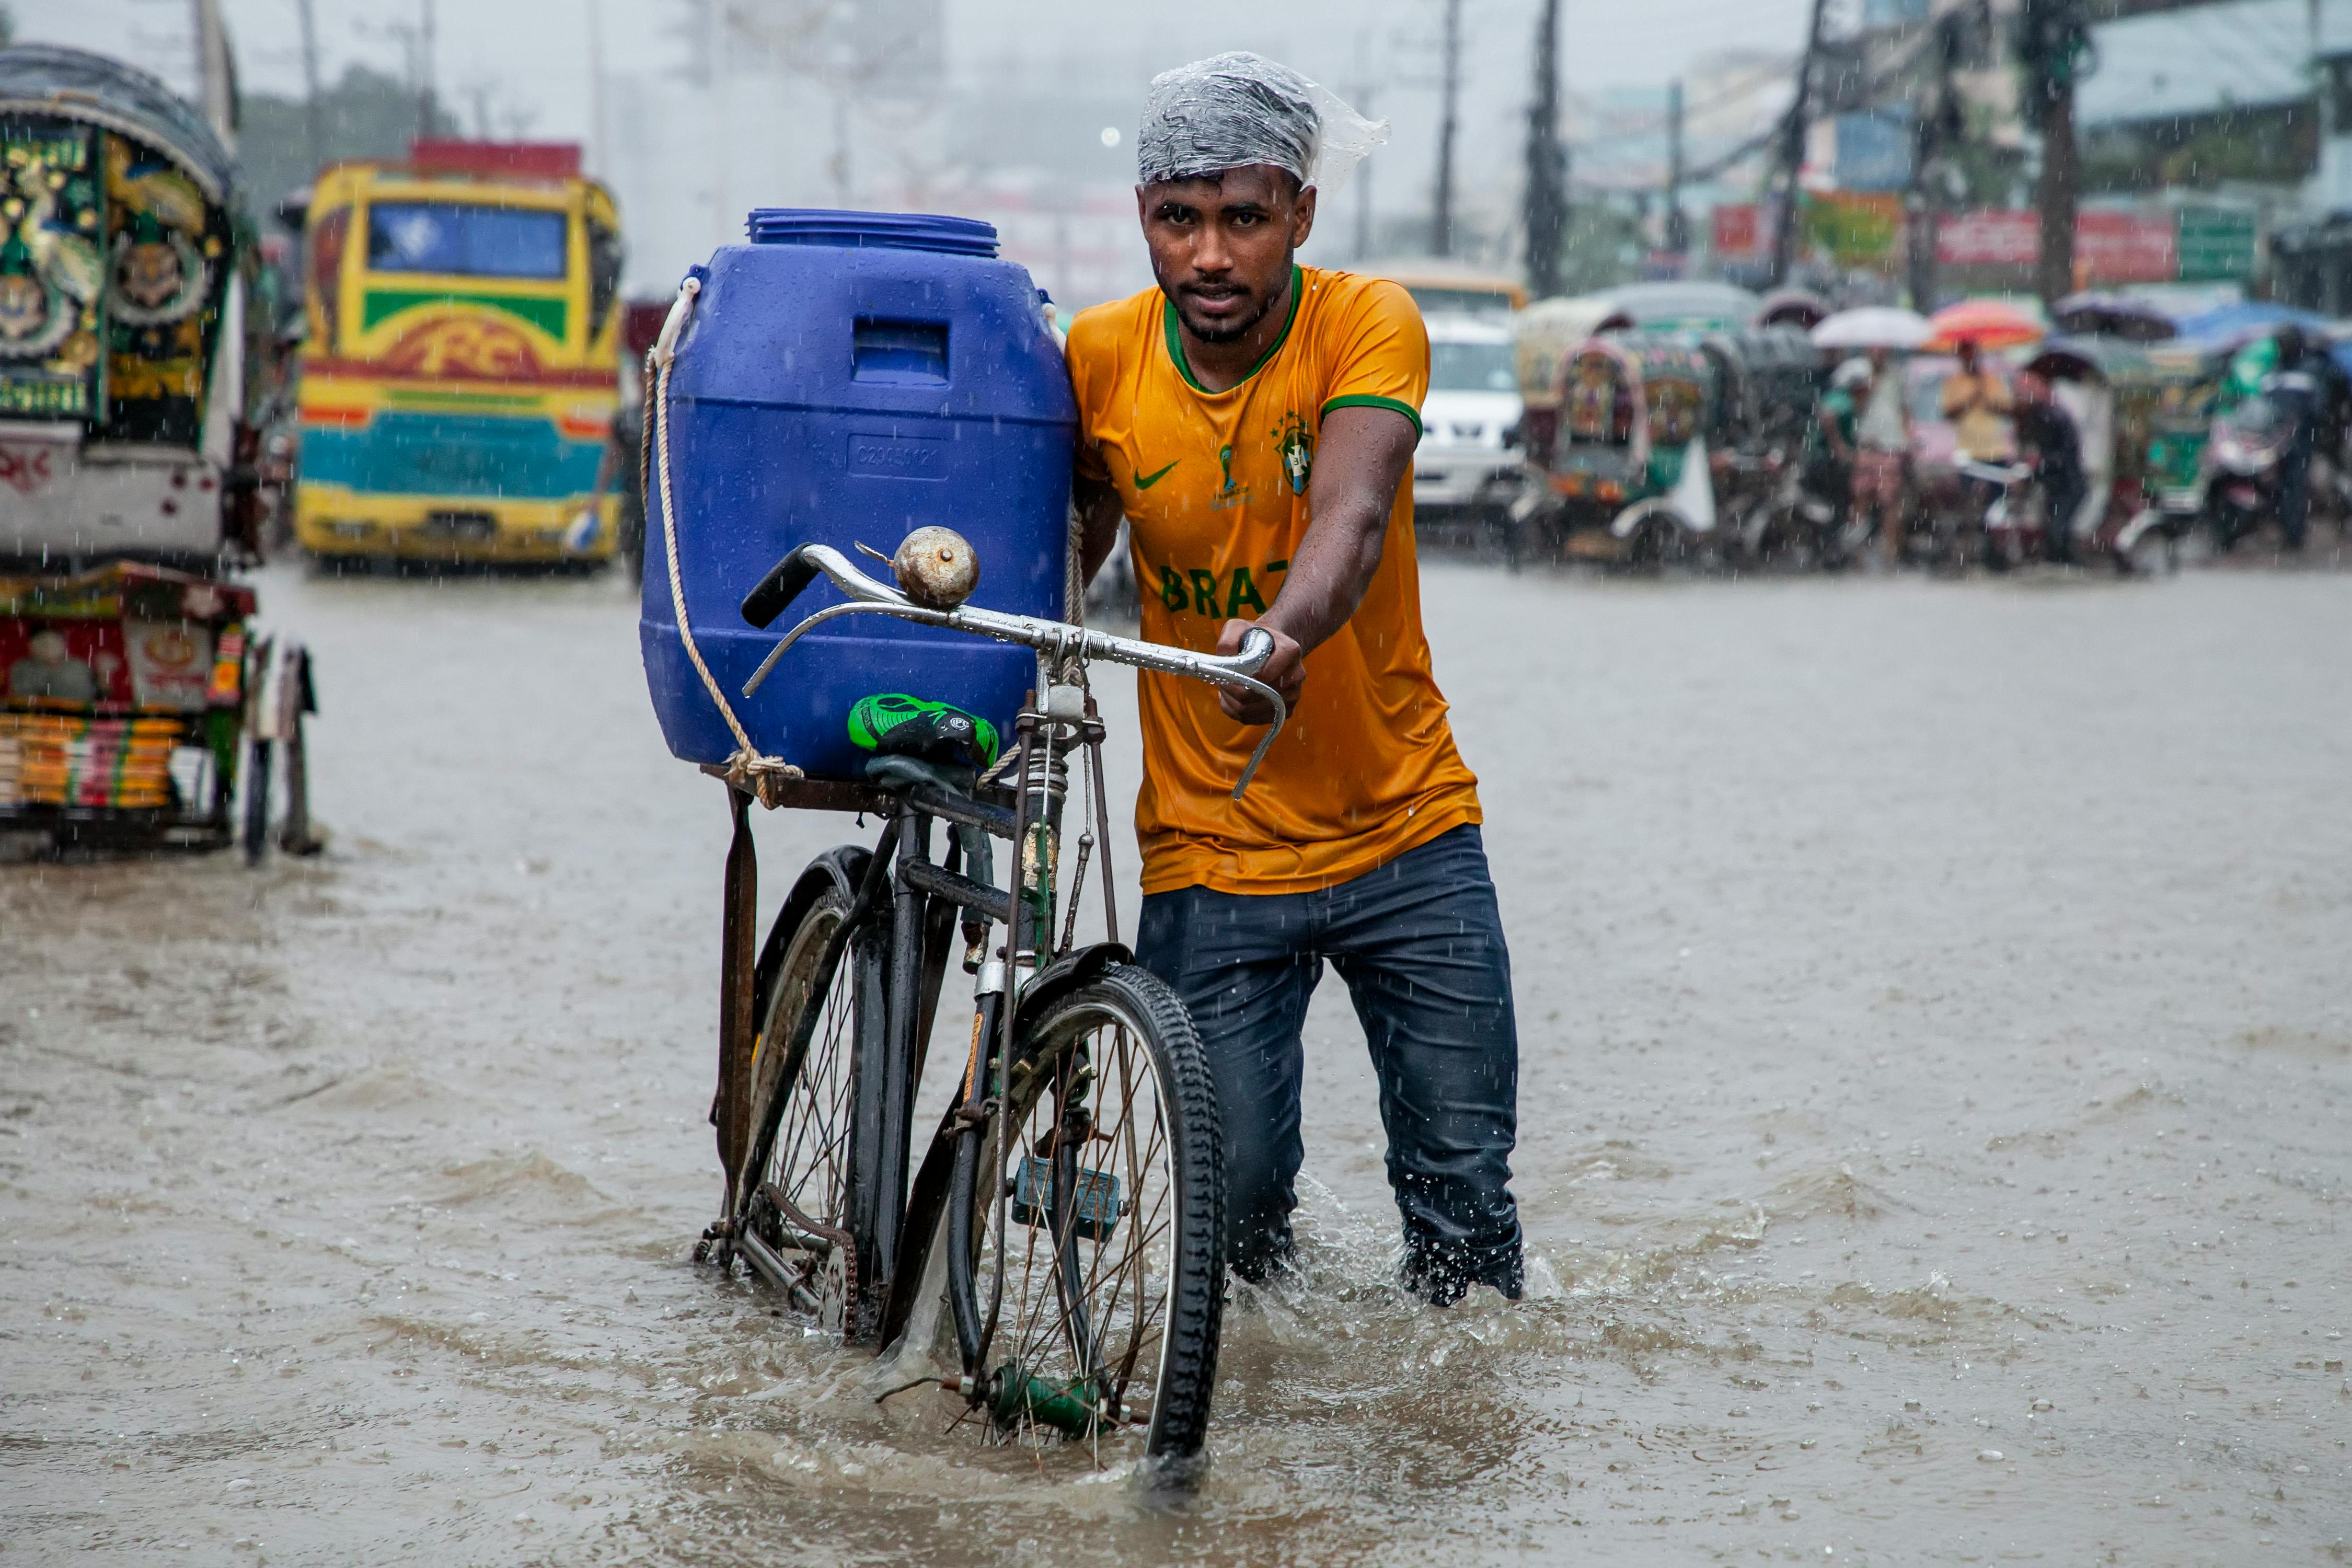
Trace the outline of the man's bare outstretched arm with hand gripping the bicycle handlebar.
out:
[[[1272,632],[1275,654],[1258,679],[1294,708],[1305,684],[1305,656],[1348,625],[1371,588],[1371,574],[1381,569],[1388,517],[1414,463],[1416,442],[1414,421],[1397,409],[1329,409],[1308,480],[1308,531],[1291,550],[1282,592],[1256,621],[1228,621],[1216,639],[1218,654],[1240,654],[1242,632],[1251,625]],[[1242,724],[1275,719],[1268,703],[1247,693],[1221,689],[1218,703]]]

